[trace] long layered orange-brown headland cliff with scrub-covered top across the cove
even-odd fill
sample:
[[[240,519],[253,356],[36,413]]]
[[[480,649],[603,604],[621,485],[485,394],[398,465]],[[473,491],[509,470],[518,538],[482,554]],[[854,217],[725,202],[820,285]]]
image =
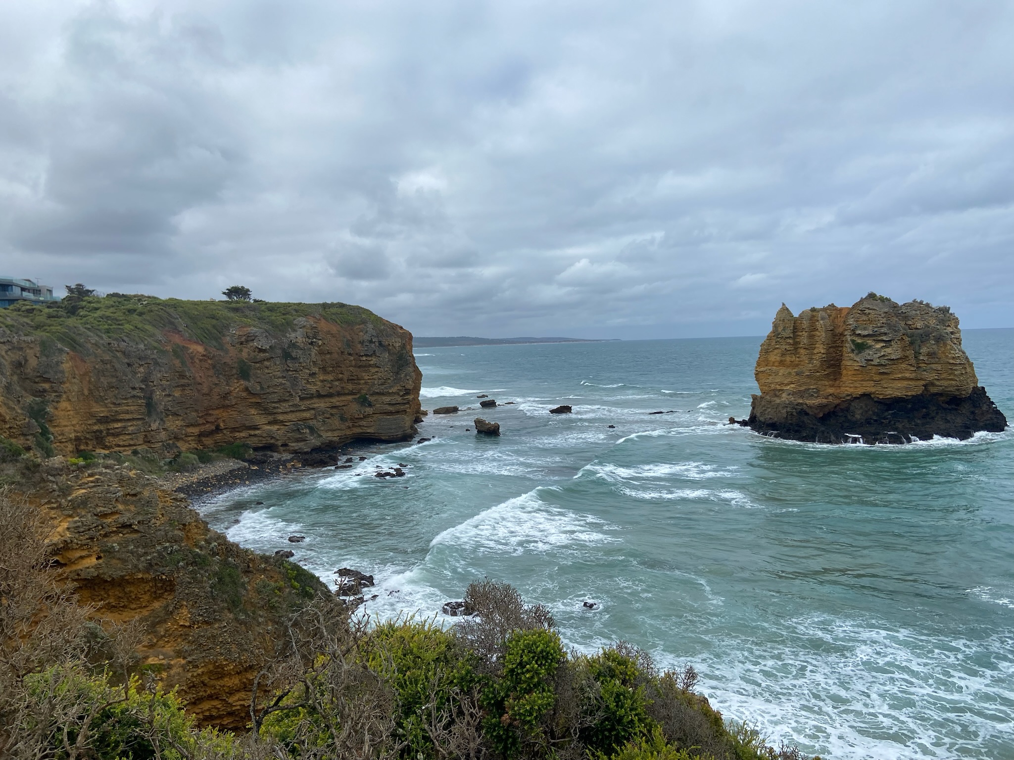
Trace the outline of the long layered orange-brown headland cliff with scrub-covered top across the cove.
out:
[[[0,435],[73,455],[409,438],[412,335],[344,304],[147,296],[0,309]]]

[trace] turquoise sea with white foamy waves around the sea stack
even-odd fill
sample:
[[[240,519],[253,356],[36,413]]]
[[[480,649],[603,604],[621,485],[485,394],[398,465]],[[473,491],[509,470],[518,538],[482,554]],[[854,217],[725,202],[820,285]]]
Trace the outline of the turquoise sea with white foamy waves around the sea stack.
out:
[[[475,412],[201,509],[323,579],[374,574],[383,617],[508,581],[573,647],[693,663],[724,714],[811,753],[1014,758],[1014,434],[831,447],[723,425],[759,341],[422,350],[424,407]],[[964,344],[1014,419],[1014,330]],[[480,412],[479,393],[516,403]],[[478,414],[503,436],[466,432]]]

